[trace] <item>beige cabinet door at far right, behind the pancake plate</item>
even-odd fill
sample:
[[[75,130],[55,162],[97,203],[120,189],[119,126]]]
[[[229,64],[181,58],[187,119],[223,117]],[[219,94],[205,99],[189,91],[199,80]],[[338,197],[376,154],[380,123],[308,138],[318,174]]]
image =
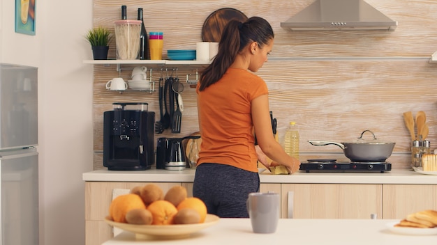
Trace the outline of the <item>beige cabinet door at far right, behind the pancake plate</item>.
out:
[[[437,210],[437,184],[383,184],[383,219]]]

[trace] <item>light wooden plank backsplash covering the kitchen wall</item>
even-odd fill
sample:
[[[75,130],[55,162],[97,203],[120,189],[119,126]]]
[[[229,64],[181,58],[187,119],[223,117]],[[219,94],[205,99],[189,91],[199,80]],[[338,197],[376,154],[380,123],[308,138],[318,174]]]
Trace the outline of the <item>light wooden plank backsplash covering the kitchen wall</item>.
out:
[[[403,123],[404,111],[425,111],[431,148],[437,146],[437,65],[429,57],[437,50],[437,2],[366,0],[397,20],[395,31],[287,31],[280,23],[313,0],[243,1],[103,1],[94,0],[94,25],[108,26],[119,19],[120,6],[128,6],[128,19],[144,8],[147,31],[163,31],[167,49],[195,49],[202,24],[218,8],[237,8],[248,17],[265,17],[275,32],[270,60],[257,74],[269,87],[270,109],[278,120],[280,138],[289,120],[299,125],[301,161],[309,157],[335,157],[346,161],[335,145],[323,147],[309,139],[354,141],[371,129],[381,141],[396,142],[388,159],[392,168],[409,168],[410,138]],[[114,43],[110,58],[114,58]],[[112,102],[147,102],[159,119],[158,95],[105,90],[113,77],[128,79],[134,65],[94,65],[94,169],[103,168],[103,111]],[[151,65],[153,81],[161,68]],[[172,70],[174,67],[167,67]],[[179,79],[201,67],[177,65]],[[192,79],[192,78],[191,78]],[[195,89],[185,86],[182,132],[155,137],[179,137],[198,131]]]

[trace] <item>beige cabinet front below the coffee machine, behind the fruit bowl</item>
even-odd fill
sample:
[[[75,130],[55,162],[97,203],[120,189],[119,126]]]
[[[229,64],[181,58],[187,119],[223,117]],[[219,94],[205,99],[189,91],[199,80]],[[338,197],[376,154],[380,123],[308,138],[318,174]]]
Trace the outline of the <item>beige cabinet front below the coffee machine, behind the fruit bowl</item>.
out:
[[[149,182],[85,182],[85,244],[100,245],[112,238],[112,228],[104,221],[109,214],[113,189],[132,189]],[[157,184],[164,193],[178,182]]]

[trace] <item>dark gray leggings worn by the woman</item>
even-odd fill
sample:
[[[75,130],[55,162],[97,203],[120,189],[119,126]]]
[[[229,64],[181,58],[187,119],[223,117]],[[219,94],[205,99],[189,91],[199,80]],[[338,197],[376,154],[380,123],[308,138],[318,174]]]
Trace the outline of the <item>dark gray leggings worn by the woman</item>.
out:
[[[200,164],[195,171],[193,196],[221,218],[248,218],[246,200],[259,190],[258,173],[224,164]]]

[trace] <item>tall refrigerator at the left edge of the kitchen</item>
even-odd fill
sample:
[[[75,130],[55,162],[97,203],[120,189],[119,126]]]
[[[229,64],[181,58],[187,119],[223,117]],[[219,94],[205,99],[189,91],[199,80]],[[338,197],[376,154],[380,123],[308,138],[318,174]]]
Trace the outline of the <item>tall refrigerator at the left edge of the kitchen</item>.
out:
[[[0,63],[0,245],[39,244],[38,68]]]

